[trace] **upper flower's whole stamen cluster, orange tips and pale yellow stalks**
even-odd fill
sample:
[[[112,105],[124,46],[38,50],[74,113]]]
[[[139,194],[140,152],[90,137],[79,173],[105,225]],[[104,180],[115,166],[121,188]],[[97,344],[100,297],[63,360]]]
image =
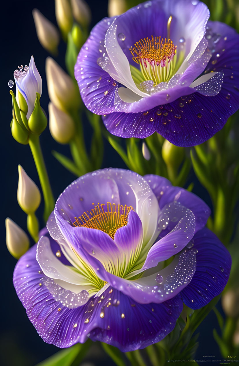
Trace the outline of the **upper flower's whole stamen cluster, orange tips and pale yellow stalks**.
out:
[[[170,39],[151,36],[136,42],[130,52],[145,80],[153,80],[157,85],[173,76],[176,48]]]

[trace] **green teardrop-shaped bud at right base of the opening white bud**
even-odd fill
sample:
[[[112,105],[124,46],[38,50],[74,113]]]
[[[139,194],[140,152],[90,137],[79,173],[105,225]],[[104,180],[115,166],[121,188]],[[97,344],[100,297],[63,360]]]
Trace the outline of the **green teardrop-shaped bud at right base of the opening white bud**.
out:
[[[40,98],[41,95],[36,92],[34,110],[28,120],[28,127],[30,128],[31,132],[38,135],[40,135],[47,126],[47,118],[45,113],[42,111]]]

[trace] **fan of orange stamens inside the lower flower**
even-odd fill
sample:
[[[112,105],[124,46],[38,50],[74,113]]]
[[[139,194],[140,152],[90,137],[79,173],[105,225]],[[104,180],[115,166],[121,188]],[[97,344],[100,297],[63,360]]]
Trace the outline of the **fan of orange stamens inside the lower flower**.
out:
[[[84,212],[78,219],[75,217],[73,225],[104,231],[114,239],[116,230],[127,225],[128,214],[133,208],[110,202],[107,202],[107,210],[104,206],[104,203],[98,204],[87,213]]]

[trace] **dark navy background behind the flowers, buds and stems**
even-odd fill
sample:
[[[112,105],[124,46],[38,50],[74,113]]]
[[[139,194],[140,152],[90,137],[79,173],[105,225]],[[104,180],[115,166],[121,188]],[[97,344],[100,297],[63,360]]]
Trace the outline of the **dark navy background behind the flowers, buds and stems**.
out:
[[[4,5],[3,5],[4,4]],[[95,25],[101,18],[107,15],[107,1],[89,0],[88,4],[92,10],[92,24]],[[1,365],[33,366],[42,361],[54,352],[58,351],[55,346],[46,344],[36,333],[35,328],[28,320],[25,310],[16,296],[12,285],[12,273],[16,260],[11,257],[5,246],[5,217],[10,217],[20,227],[27,231],[26,214],[20,209],[16,192],[18,186],[18,164],[26,170],[27,174],[40,187],[36,168],[31,156],[29,146],[20,145],[11,135],[10,122],[12,119],[12,101],[9,94],[8,81],[13,78],[13,72],[20,64],[29,64],[31,55],[34,56],[36,67],[42,76],[43,88],[41,105],[48,113],[49,97],[47,94],[45,59],[49,54],[39,44],[35,32],[32,9],[38,8],[47,18],[56,24],[53,0],[25,0],[5,1],[1,5],[3,19],[1,25],[2,41],[2,69],[1,69],[1,166],[4,171],[1,174],[1,334],[0,334],[0,363]],[[60,44],[57,62],[64,67],[65,44]],[[13,88],[15,92],[15,86]],[[89,146],[90,129],[87,121],[83,121],[85,128],[86,145]],[[75,176],[65,170],[52,156],[51,150],[57,150],[69,156],[68,146],[59,145],[50,135],[48,127],[41,136],[41,145],[45,157],[50,182],[55,198],[63,189],[75,179]],[[105,141],[105,153],[103,167],[122,167],[125,165],[116,152]],[[200,195],[211,205],[207,192],[195,181],[194,193]],[[37,211],[38,217],[42,217],[43,205]],[[43,222],[41,222],[41,226]],[[32,242],[33,244],[33,242]],[[212,329],[216,327],[216,318],[211,313],[198,331],[200,331],[200,347],[197,351],[197,359],[204,355],[215,355],[220,359],[220,352],[213,340]],[[100,350],[95,349],[95,359],[99,360]],[[111,361],[97,361],[98,365],[112,365]]]

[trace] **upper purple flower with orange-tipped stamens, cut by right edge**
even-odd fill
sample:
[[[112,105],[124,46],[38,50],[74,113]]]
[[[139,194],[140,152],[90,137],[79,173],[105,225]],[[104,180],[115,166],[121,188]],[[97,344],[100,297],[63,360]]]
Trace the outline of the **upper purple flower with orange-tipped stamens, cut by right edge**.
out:
[[[101,20],[75,66],[86,107],[120,137],[212,137],[239,108],[239,35],[208,18],[198,0],[154,0]]]

